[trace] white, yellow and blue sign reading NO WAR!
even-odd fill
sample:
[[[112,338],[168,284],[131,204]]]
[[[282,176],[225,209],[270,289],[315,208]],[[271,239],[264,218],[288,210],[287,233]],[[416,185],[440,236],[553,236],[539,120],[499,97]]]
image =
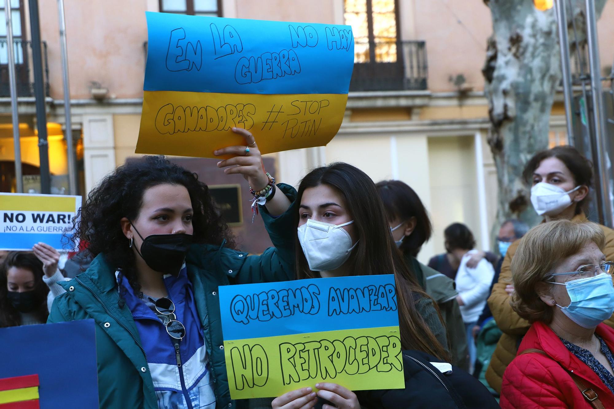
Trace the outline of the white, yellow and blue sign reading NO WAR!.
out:
[[[32,250],[38,242],[56,250],[81,207],[81,196],[0,193],[0,250]]]

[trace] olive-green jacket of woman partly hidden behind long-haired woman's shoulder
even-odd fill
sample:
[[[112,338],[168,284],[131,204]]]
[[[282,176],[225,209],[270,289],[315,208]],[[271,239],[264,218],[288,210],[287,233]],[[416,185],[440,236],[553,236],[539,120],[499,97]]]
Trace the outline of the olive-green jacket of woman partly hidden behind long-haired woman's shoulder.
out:
[[[435,300],[441,318],[446,324],[449,351],[454,364],[464,370],[469,369],[467,350],[467,335],[462,321],[461,309],[456,300],[458,292],[454,288],[454,280],[425,266],[409,254],[404,254],[405,262],[416,273],[416,279],[429,296]]]

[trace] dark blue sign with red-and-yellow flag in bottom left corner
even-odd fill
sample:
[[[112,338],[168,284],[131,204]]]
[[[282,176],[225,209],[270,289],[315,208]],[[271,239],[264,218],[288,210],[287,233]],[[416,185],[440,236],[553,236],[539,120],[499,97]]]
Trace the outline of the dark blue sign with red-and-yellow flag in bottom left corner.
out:
[[[0,328],[0,408],[98,408],[93,319]]]

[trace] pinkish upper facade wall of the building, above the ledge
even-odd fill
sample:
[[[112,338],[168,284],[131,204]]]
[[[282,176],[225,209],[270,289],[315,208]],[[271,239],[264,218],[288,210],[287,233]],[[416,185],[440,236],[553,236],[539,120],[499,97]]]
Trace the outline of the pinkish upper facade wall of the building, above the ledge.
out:
[[[110,97],[142,96],[147,40],[146,10],[157,0],[65,0],[66,32],[73,98],[90,97],[90,82],[109,88]],[[55,1],[39,2],[42,39],[47,41],[52,96],[62,94],[58,10]],[[314,23],[343,23],[343,0],[223,0],[227,17]],[[429,89],[454,91],[450,75],[463,74],[467,85],[483,89],[481,67],[491,17],[483,0],[401,0],[404,40],[426,40]],[[602,65],[614,59],[614,1],[598,23]]]

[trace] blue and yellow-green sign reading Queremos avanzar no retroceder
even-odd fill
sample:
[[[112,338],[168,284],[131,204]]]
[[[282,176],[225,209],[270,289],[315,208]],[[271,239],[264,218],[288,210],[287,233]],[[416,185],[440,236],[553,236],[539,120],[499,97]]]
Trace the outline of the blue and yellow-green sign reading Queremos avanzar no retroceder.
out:
[[[318,382],[403,388],[394,275],[220,286],[233,399]]]

